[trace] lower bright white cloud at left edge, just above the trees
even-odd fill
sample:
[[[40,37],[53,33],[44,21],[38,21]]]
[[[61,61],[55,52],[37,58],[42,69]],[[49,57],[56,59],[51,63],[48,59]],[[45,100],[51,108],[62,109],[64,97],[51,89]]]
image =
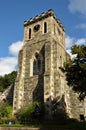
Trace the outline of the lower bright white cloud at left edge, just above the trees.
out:
[[[17,65],[16,57],[4,57],[0,58],[0,75],[8,74],[15,70]]]

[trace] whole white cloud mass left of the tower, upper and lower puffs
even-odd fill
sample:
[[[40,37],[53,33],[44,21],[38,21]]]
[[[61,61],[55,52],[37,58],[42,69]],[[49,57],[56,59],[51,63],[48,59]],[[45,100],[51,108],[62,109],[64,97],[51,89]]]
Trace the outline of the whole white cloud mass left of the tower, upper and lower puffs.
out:
[[[22,45],[23,41],[17,41],[8,47],[8,51],[12,56],[0,58],[0,75],[8,74],[15,70],[18,64],[18,52]]]

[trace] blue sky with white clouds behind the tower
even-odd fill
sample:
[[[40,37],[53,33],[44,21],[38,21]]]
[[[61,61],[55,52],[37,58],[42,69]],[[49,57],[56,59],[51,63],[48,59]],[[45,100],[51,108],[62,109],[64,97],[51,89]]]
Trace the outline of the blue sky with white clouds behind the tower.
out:
[[[0,0],[0,75],[16,69],[24,21],[53,9],[66,29],[66,49],[86,45],[86,0]]]

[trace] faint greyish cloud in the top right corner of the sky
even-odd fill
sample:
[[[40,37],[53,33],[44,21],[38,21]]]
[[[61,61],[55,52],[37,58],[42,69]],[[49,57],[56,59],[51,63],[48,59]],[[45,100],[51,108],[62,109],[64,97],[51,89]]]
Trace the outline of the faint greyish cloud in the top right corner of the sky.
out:
[[[86,15],[86,0],[69,0],[69,10],[72,13],[79,12]]]

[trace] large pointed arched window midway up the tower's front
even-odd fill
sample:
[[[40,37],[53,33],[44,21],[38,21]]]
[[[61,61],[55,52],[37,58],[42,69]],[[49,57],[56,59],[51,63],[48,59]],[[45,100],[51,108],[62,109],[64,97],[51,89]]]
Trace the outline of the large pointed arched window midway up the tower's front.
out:
[[[36,52],[35,59],[33,61],[33,75],[37,75],[42,70],[42,59],[40,55]]]

